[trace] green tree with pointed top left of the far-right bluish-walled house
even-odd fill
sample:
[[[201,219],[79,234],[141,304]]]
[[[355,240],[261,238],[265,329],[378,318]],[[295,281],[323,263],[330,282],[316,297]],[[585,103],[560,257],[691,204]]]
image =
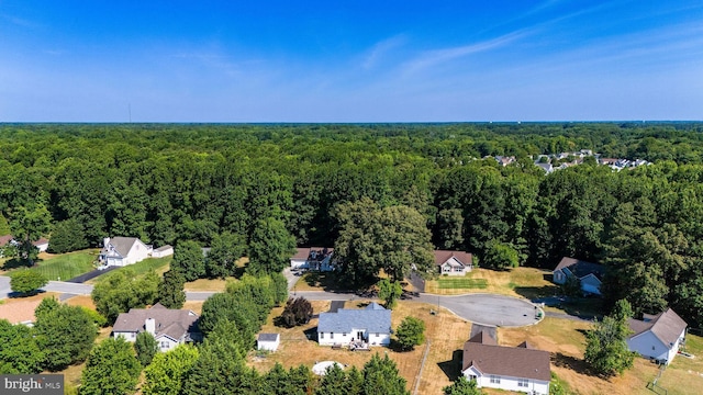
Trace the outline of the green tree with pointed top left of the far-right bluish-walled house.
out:
[[[633,366],[635,353],[629,351],[626,342],[632,334],[627,325],[632,314],[629,303],[621,300],[613,313],[587,334],[584,360],[599,375],[622,374]]]

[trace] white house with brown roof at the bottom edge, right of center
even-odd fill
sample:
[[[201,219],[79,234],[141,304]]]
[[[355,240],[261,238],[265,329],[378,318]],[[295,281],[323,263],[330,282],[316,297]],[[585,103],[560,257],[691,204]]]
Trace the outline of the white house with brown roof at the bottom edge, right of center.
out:
[[[529,394],[549,394],[549,352],[526,341],[517,347],[498,346],[490,335],[479,332],[464,345],[461,374],[476,380],[479,388],[499,388]]]

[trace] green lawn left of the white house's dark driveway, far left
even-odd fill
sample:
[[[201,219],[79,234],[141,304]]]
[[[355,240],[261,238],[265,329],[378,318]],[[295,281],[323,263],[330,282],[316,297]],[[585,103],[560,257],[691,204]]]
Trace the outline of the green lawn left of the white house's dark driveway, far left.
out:
[[[77,275],[87,273],[93,269],[93,261],[98,258],[98,250],[87,249],[62,255],[40,255],[35,270],[49,280],[70,280]],[[13,271],[7,273],[12,276]]]

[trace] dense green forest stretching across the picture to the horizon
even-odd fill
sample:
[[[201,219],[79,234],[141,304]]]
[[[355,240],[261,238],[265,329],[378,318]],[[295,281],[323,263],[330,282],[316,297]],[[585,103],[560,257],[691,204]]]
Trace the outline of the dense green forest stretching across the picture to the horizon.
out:
[[[592,149],[546,176],[532,157]],[[487,156],[514,156],[500,166]],[[420,213],[435,248],[604,263],[606,301],[703,324],[703,124],[2,124],[0,235],[333,246],[343,204]],[[403,210],[405,210],[403,208]],[[398,211],[403,213],[404,211]],[[257,252],[261,255],[263,252]]]

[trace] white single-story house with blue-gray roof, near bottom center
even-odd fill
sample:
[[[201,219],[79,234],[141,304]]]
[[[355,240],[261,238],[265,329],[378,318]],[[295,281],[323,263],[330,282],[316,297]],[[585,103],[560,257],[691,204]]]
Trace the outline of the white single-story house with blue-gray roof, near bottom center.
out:
[[[339,308],[336,313],[320,313],[317,342],[321,346],[364,348],[388,346],[391,342],[391,311],[378,303],[364,309]]]

